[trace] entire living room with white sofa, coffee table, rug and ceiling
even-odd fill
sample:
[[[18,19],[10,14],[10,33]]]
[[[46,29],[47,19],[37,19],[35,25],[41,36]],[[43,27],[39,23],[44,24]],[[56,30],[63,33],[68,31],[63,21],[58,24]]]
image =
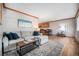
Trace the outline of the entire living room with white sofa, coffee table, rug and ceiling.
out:
[[[78,6],[77,3],[2,3],[0,55],[79,55]]]

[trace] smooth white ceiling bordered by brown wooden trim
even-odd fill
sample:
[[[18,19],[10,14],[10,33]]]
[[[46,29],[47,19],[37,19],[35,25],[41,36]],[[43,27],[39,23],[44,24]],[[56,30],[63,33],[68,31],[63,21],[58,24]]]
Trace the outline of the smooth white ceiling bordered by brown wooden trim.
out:
[[[11,3],[6,6],[39,17],[39,22],[74,17],[78,9],[74,3]]]

